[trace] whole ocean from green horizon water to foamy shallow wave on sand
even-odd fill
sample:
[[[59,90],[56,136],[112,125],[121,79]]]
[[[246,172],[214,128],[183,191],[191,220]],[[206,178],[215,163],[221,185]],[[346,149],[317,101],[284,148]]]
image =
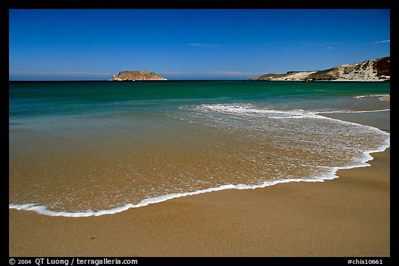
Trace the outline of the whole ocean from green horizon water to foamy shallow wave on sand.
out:
[[[112,214],[362,167],[389,132],[323,113],[389,112],[389,82],[10,82],[9,207]]]

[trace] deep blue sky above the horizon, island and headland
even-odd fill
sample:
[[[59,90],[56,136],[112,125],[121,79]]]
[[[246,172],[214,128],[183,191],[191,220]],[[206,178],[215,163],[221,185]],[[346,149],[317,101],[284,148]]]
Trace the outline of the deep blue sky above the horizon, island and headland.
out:
[[[390,55],[389,10],[9,10],[10,80],[248,79]]]

